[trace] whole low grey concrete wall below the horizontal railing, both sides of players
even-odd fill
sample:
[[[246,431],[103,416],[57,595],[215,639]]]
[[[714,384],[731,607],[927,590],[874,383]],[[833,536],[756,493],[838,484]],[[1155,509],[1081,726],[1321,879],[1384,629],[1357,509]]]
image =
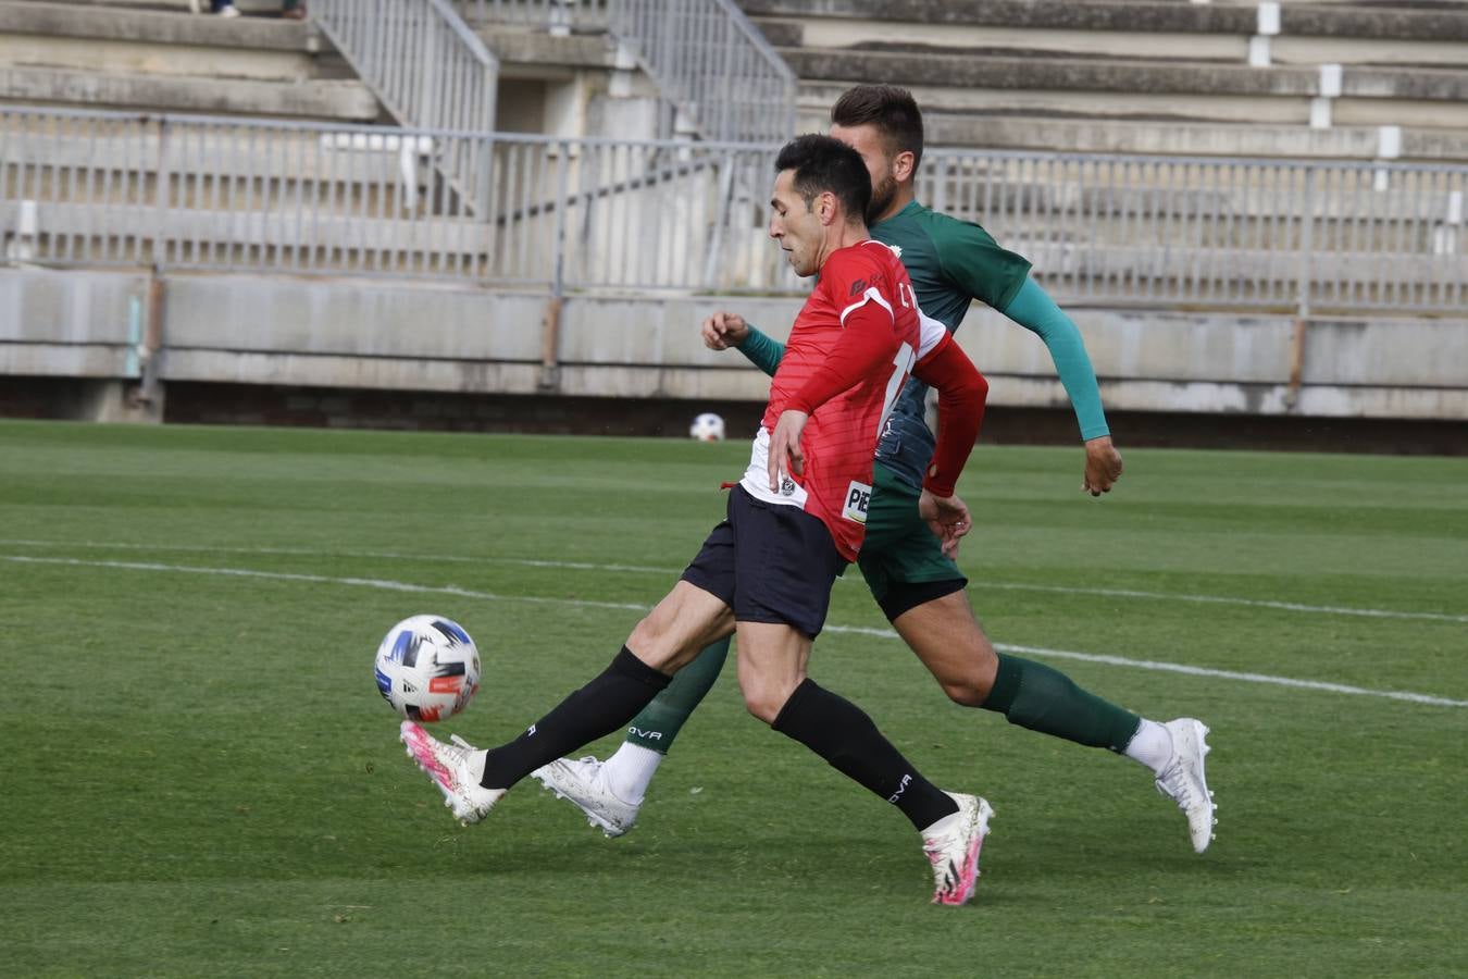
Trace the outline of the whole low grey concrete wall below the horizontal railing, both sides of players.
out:
[[[0,270],[3,376],[125,377],[131,273]],[[703,349],[697,324],[733,310],[784,338],[799,299],[567,299],[556,370],[542,367],[543,294],[370,279],[173,276],[163,289],[159,379],[342,389],[762,401],[738,354]],[[1468,317],[1330,319],[1069,310],[1114,411],[1468,420]],[[976,308],[963,346],[991,404],[1064,407],[1044,343]],[[0,380],[3,383],[3,380]]]

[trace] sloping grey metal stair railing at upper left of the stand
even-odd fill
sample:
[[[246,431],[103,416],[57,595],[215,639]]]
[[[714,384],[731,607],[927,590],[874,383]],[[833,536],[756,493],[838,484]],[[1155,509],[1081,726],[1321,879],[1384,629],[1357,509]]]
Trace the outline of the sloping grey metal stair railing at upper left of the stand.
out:
[[[405,126],[490,132],[499,62],[448,0],[313,0],[310,16]],[[482,208],[486,160],[471,144],[433,154],[470,210]]]

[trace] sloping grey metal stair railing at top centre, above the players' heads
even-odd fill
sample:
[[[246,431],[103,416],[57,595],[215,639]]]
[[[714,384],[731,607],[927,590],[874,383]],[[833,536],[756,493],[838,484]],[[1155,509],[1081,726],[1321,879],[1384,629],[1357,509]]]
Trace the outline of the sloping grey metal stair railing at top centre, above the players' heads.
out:
[[[715,142],[794,131],[796,76],[733,0],[612,0],[608,15],[686,128]]]

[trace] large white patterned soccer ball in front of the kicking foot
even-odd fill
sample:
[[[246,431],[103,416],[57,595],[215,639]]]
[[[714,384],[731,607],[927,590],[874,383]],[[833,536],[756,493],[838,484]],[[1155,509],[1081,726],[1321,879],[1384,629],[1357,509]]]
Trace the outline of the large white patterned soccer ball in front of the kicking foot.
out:
[[[479,690],[479,650],[458,622],[414,615],[388,630],[373,672],[393,710],[411,721],[445,721]]]

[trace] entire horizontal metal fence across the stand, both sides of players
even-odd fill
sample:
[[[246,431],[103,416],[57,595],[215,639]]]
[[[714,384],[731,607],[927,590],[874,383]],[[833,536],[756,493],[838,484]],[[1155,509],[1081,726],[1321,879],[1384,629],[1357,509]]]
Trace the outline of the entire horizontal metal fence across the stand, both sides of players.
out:
[[[482,207],[437,160],[483,160]],[[775,147],[0,109],[3,257],[800,294]],[[1468,167],[929,150],[920,198],[1061,302],[1468,310]]]

